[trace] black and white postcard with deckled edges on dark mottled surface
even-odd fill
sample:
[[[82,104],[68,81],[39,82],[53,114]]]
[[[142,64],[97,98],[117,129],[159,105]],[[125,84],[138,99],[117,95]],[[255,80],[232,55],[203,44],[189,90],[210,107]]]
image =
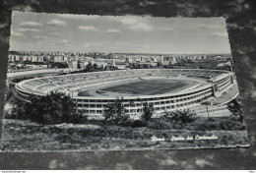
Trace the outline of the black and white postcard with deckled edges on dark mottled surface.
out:
[[[1,151],[248,146],[234,72],[221,17],[14,11]]]

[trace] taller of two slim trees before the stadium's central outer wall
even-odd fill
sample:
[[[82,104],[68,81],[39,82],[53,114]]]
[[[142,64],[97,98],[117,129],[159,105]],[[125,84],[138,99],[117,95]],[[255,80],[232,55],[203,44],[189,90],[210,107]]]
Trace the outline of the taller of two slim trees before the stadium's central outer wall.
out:
[[[117,97],[113,103],[108,103],[104,109],[104,120],[110,120],[111,124],[118,125],[125,116],[125,108],[123,105],[123,97]]]

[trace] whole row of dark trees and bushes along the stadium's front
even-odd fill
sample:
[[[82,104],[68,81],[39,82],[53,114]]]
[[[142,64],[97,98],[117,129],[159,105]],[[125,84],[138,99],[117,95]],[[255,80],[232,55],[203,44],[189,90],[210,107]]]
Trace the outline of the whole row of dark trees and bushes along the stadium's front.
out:
[[[9,97],[13,97],[12,92]],[[86,123],[88,116],[77,109],[77,103],[74,102],[70,95],[62,92],[50,92],[46,96],[30,96],[30,102],[21,99],[12,99],[12,112],[7,115],[16,119],[30,119],[41,124],[59,124],[59,123]],[[228,110],[234,116],[239,117],[239,121],[243,121],[241,113],[241,104],[236,100],[232,100],[227,104]],[[113,103],[108,103],[104,109],[104,122],[112,125],[128,125],[142,124],[145,126],[147,122],[153,119],[154,106],[143,103],[142,114],[140,120],[132,120],[125,112],[126,108],[123,104],[123,97],[116,98]],[[194,122],[196,114],[190,110],[176,110],[165,112],[164,121],[170,123],[191,124]],[[136,125],[137,126],[137,125]],[[139,125],[140,126],[140,125]]]

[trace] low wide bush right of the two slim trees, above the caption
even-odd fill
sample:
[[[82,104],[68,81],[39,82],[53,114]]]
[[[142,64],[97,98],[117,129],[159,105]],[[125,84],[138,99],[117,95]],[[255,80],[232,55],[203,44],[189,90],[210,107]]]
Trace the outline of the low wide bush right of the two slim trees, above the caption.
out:
[[[195,120],[196,113],[191,112],[189,109],[187,110],[176,110],[167,112],[163,117],[170,122],[181,122],[182,124],[192,123]]]

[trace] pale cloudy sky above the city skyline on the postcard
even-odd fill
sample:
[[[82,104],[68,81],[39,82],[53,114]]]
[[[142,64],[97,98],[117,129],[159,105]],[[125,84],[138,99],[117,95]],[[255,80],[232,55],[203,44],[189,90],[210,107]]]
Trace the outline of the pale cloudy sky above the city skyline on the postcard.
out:
[[[230,53],[224,18],[88,16],[14,11],[10,50]]]

